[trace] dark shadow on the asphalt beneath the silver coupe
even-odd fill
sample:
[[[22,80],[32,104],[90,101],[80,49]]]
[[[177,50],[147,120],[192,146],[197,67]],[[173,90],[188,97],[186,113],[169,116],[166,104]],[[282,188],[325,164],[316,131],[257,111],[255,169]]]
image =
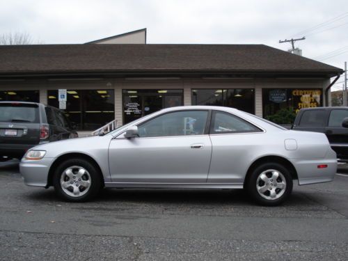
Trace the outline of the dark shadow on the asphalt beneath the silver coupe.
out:
[[[258,206],[246,191],[242,189],[102,189],[100,194],[88,203],[68,203],[56,196],[54,189],[31,191],[27,198],[36,203],[98,205],[168,205],[168,206]],[[308,198],[294,191],[292,196],[281,206],[308,205]],[[99,207],[98,207],[99,208]]]

